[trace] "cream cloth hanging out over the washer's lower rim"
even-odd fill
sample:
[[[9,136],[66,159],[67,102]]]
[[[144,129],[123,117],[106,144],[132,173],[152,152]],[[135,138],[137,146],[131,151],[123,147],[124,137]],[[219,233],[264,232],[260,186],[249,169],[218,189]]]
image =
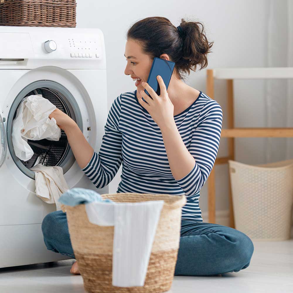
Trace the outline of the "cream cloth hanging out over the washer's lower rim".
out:
[[[61,210],[59,197],[68,190],[63,175],[63,169],[59,166],[43,166],[38,164],[31,171],[35,172],[35,193],[40,199],[47,203],[55,203],[56,210]]]

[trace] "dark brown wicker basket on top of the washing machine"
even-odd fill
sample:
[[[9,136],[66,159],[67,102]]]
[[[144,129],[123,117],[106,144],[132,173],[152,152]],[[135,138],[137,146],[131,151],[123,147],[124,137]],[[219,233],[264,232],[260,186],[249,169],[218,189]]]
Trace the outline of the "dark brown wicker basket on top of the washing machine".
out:
[[[76,0],[0,0],[0,25],[76,27]]]

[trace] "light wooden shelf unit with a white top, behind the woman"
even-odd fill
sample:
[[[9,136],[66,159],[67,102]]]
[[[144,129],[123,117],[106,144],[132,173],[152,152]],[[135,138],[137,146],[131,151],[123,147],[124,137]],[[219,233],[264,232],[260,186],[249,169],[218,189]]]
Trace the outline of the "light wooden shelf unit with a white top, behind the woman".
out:
[[[234,79],[293,79],[293,67],[230,67],[207,69],[207,95],[214,99],[214,80],[226,79],[227,84],[227,113],[223,113],[223,119],[227,120],[227,129],[222,129],[221,138],[227,138],[228,156],[216,158],[215,165],[226,164],[235,157],[236,137],[293,137],[293,128],[234,128]],[[209,223],[215,222],[215,171],[214,167],[207,180],[208,186],[208,215]],[[234,225],[234,210],[231,194],[229,175],[229,200],[230,200],[230,227]]]

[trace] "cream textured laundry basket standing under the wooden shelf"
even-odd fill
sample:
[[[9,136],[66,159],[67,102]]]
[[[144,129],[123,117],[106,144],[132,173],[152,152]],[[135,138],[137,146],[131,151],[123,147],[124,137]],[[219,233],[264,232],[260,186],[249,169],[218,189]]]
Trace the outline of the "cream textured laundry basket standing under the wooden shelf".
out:
[[[228,162],[235,228],[255,240],[290,239],[293,159],[262,165]]]

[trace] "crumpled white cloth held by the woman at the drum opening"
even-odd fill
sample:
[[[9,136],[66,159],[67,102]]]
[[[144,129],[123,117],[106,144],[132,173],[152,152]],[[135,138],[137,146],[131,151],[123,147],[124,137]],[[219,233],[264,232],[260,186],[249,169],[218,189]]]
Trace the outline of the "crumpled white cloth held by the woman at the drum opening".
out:
[[[28,161],[34,154],[28,139],[60,139],[60,127],[54,118],[49,118],[55,109],[56,106],[42,95],[31,95],[21,100],[12,121],[11,134],[14,152],[19,159]]]

